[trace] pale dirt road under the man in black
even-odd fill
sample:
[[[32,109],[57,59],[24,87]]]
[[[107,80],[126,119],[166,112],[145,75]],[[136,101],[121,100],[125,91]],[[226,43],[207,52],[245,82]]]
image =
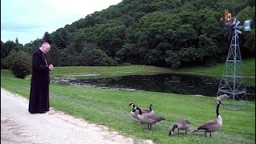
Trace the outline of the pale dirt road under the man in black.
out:
[[[26,98],[1,88],[1,143],[152,143],[135,142],[53,108],[46,114],[30,114],[27,109]]]

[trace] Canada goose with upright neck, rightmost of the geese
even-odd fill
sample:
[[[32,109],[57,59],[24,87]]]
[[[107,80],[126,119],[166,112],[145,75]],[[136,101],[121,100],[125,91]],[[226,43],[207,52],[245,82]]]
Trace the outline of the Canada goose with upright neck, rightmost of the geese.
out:
[[[206,133],[210,133],[210,137],[211,137],[211,133],[218,131],[222,127],[222,117],[218,113],[218,107],[220,104],[222,104],[222,102],[218,101],[217,107],[216,107],[217,118],[210,120],[208,122],[205,122],[202,126],[199,126],[197,130],[194,130],[193,133],[197,132],[198,130],[203,130],[205,132],[205,137],[206,137]]]

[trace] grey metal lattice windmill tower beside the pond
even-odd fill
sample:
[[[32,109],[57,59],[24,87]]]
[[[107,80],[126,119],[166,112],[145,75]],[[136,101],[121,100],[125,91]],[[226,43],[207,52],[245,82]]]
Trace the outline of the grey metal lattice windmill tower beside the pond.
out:
[[[232,36],[232,39],[222,79],[218,86],[217,98],[222,96],[223,106],[230,110],[237,110],[248,106],[246,86],[243,85],[244,74],[238,35],[242,34],[242,28],[244,31],[250,31],[251,22],[251,20],[246,20],[243,26],[239,26],[240,22],[234,18],[233,22],[226,26],[226,30],[228,30],[226,32],[230,33],[229,35],[230,37]]]

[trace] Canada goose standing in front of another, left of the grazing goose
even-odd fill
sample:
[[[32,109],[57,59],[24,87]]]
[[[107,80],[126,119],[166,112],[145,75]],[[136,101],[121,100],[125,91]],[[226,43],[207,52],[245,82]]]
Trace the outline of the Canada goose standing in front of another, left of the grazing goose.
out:
[[[138,120],[140,120],[143,123],[146,123],[149,130],[151,129],[151,126],[154,123],[165,120],[165,118],[158,117],[151,113],[142,114],[142,110],[138,106],[135,106],[135,109],[138,110]]]

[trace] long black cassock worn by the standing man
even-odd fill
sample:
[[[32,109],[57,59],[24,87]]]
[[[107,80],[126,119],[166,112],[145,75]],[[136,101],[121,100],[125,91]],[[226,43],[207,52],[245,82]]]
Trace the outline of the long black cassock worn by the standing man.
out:
[[[30,113],[49,111],[50,72],[47,59],[42,50],[34,50],[32,57],[32,77],[30,83]]]

